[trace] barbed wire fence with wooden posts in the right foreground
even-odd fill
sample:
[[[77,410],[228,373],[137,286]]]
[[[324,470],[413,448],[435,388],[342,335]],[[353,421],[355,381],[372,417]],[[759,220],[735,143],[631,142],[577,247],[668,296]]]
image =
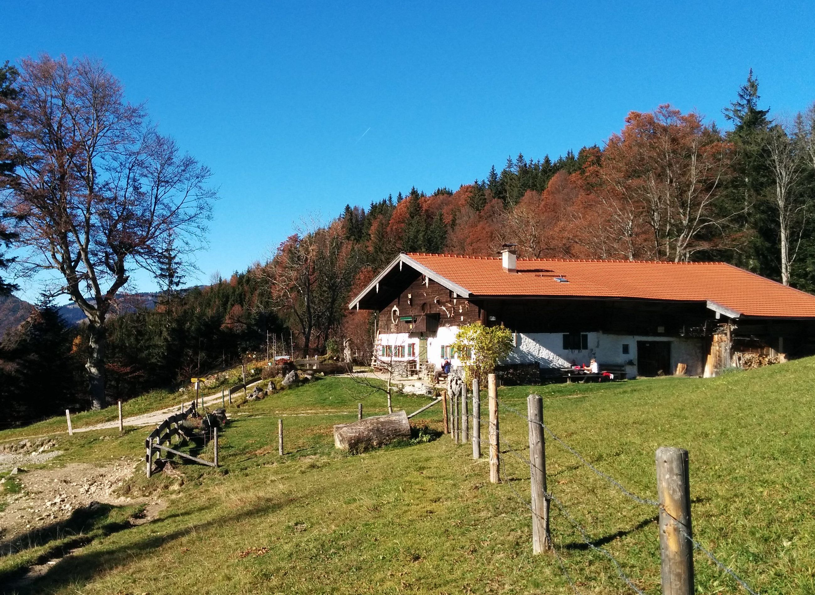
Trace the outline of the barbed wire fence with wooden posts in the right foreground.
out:
[[[619,560],[617,558],[615,558],[614,555],[612,553],[610,553],[607,549],[605,549],[605,548],[601,547],[599,544],[597,544],[597,540],[592,539],[592,537],[589,535],[588,531],[584,527],[582,527],[579,524],[579,522],[577,522],[577,520],[575,519],[575,515],[569,512],[569,510],[566,508],[566,505],[563,503],[562,499],[558,498],[557,495],[553,492],[553,490],[551,490],[551,489],[547,490],[547,489],[544,488],[544,499],[546,500],[547,505],[545,507],[545,512],[544,512],[544,517],[545,518],[541,518],[540,510],[535,509],[535,506],[532,504],[532,500],[528,499],[526,496],[523,496],[513,486],[513,482],[509,481],[509,478],[507,477],[507,473],[506,473],[506,461],[508,461],[508,459],[506,458],[506,455],[511,456],[513,462],[518,461],[518,463],[520,463],[524,467],[528,466],[528,469],[530,469],[529,481],[531,483],[531,493],[534,494],[535,493],[535,473],[534,472],[537,471],[539,473],[543,473],[544,477],[545,477],[545,454],[544,454],[545,451],[544,451],[543,444],[541,444],[541,451],[542,451],[541,454],[543,454],[544,458],[543,458],[543,461],[542,461],[543,465],[539,466],[539,465],[536,465],[535,462],[531,460],[531,459],[535,458],[534,456],[531,456],[531,454],[532,454],[532,451],[531,451],[531,449],[532,449],[532,440],[530,442],[530,450],[529,451],[526,451],[526,449],[524,449],[524,448],[518,448],[518,447],[513,446],[513,444],[509,442],[509,439],[507,438],[507,436],[502,435],[501,432],[500,432],[500,424],[498,423],[498,421],[499,421],[498,412],[499,411],[507,412],[507,413],[509,413],[509,414],[511,414],[511,415],[513,415],[515,417],[518,417],[518,418],[522,419],[523,421],[526,421],[526,423],[530,427],[530,433],[531,433],[533,425],[540,426],[541,430],[543,430],[543,434],[547,435],[549,438],[551,438],[553,440],[554,443],[557,443],[557,445],[559,447],[562,447],[566,452],[569,452],[572,456],[574,456],[586,469],[589,469],[590,471],[592,471],[593,474],[597,475],[597,477],[601,478],[603,481],[605,481],[610,486],[614,487],[617,491],[619,491],[619,493],[621,493],[623,496],[627,497],[628,500],[632,500],[632,502],[635,502],[638,505],[645,505],[645,506],[650,507],[651,509],[657,510],[659,512],[660,533],[663,533],[666,530],[667,531],[676,531],[676,533],[678,533],[681,536],[682,539],[680,541],[684,542],[684,543],[682,543],[682,545],[685,545],[685,546],[689,545],[689,551],[690,551],[689,562],[687,560],[685,560],[685,561],[681,560],[681,554],[682,554],[681,551],[680,552],[666,551],[666,550],[671,550],[671,548],[666,548],[665,547],[666,546],[665,540],[661,539],[660,554],[661,554],[661,558],[662,558],[663,571],[664,571],[666,565],[669,566],[669,570],[676,571],[676,562],[677,562],[677,558],[679,558],[679,562],[684,562],[685,568],[686,568],[687,571],[689,571],[689,574],[688,574],[688,572],[684,573],[685,574],[685,577],[684,577],[685,584],[681,586],[681,589],[677,589],[677,588],[675,588],[676,585],[666,584],[666,580],[665,580],[665,577],[664,577],[665,573],[663,572],[663,593],[666,593],[666,594],[667,593],[684,593],[687,588],[690,589],[688,591],[689,593],[693,592],[693,588],[694,588],[694,571],[693,571],[692,552],[694,550],[698,550],[699,552],[705,554],[705,556],[720,571],[724,572],[726,575],[729,575],[730,578],[735,580],[739,584],[739,586],[741,586],[747,593],[749,593],[750,595],[759,595],[759,593],[756,592],[755,589],[751,588],[751,586],[749,584],[747,584],[746,580],[743,580],[742,577],[737,575],[736,572],[732,568],[725,565],[725,563],[721,562],[718,558],[716,558],[716,556],[713,553],[711,553],[707,548],[705,548],[703,546],[703,544],[699,543],[698,540],[695,540],[694,537],[692,536],[692,533],[689,531],[689,527],[690,527],[690,506],[689,506],[689,492],[687,491],[687,485],[686,484],[684,486],[685,487],[685,493],[688,494],[687,503],[686,503],[686,511],[679,511],[680,513],[677,513],[677,511],[675,511],[675,510],[672,511],[672,510],[669,509],[669,508],[672,508],[672,503],[671,502],[660,502],[658,500],[653,500],[653,499],[645,497],[645,496],[640,496],[636,492],[634,492],[632,490],[629,490],[627,487],[625,487],[623,485],[623,483],[619,482],[618,479],[614,478],[610,474],[605,473],[601,469],[597,469],[597,466],[590,463],[588,461],[587,457],[583,456],[580,452],[575,450],[574,447],[571,447],[570,444],[566,443],[566,441],[564,441],[559,436],[557,436],[557,434],[555,434],[553,432],[553,430],[548,427],[548,425],[545,425],[544,422],[543,422],[542,417],[541,417],[540,421],[535,420],[535,419],[531,419],[529,416],[525,415],[523,412],[518,411],[517,408],[513,408],[511,405],[500,401],[498,399],[498,397],[497,397],[496,381],[495,381],[494,375],[491,375],[490,386],[489,386],[489,399],[491,401],[494,400],[494,404],[490,403],[490,407],[489,407],[491,409],[491,411],[495,412],[495,421],[494,421],[495,425],[494,426],[492,425],[492,423],[493,423],[492,420],[484,421],[482,419],[482,417],[481,417],[480,398],[479,398],[480,395],[478,394],[478,385],[477,384],[474,386],[474,393],[475,394],[474,394],[474,399],[473,399],[472,411],[467,412],[465,410],[465,408],[463,408],[463,407],[460,408],[460,412],[461,412],[460,417],[462,417],[463,419],[460,422],[460,424],[457,424],[457,425],[465,425],[464,420],[466,420],[467,422],[469,422],[469,423],[467,423],[467,425],[471,425],[471,427],[473,428],[473,431],[471,433],[469,433],[469,435],[471,436],[472,441],[474,443],[474,458],[476,458],[477,451],[478,451],[478,454],[480,454],[480,449],[477,449],[475,447],[476,442],[478,442],[479,445],[486,444],[487,447],[490,449],[491,455],[492,454],[495,455],[495,461],[493,461],[493,458],[491,456],[490,465],[491,465],[491,467],[493,465],[497,466],[496,477],[498,478],[498,483],[502,483],[502,484],[506,485],[507,487],[509,487],[509,491],[511,491],[512,494],[513,494],[513,497],[516,500],[518,500],[518,503],[520,505],[522,505],[523,508],[530,510],[531,517],[532,517],[532,522],[533,522],[533,533],[534,533],[534,524],[535,524],[535,522],[543,520],[543,522],[545,523],[545,526],[546,526],[546,530],[547,530],[547,535],[545,537],[546,546],[547,546],[546,549],[548,550],[548,552],[553,553],[553,555],[555,557],[555,560],[557,562],[558,569],[560,570],[563,578],[566,580],[566,583],[569,584],[571,590],[574,593],[580,593],[580,591],[578,589],[578,586],[577,586],[577,582],[575,581],[575,579],[572,577],[572,575],[569,573],[568,569],[566,568],[566,560],[565,560],[562,552],[559,551],[559,549],[555,545],[554,541],[551,539],[550,528],[549,528],[549,519],[548,519],[548,503],[549,502],[551,502],[551,503],[553,503],[555,505],[555,508],[557,509],[557,513],[559,514],[559,516],[561,518],[563,518],[564,520],[566,520],[566,522],[575,530],[575,534],[579,536],[580,540],[583,541],[584,545],[586,547],[588,547],[588,549],[591,549],[592,551],[600,554],[603,558],[606,558],[614,566],[615,571],[616,571],[617,575],[619,576],[619,579],[622,580],[623,583],[628,586],[628,588],[630,588],[634,593],[637,593],[638,595],[646,595],[645,592],[641,588],[637,587],[637,584],[635,584],[633,582],[633,580],[623,570],[623,564],[621,562],[619,562]],[[466,398],[466,397],[464,397],[464,398]],[[530,395],[530,399],[533,399],[533,398],[541,399],[539,395]],[[457,400],[457,399],[454,399],[454,398],[450,399],[450,401],[451,401],[451,403],[450,403],[451,404],[451,409],[453,409],[452,408],[452,402],[455,401],[455,400]],[[449,422],[450,422],[451,426],[453,424],[453,417],[454,416],[458,417],[456,415],[456,414],[459,413],[458,410],[459,410],[459,408],[453,409],[452,415],[449,416],[450,417]],[[475,430],[476,427],[478,427],[478,431]],[[480,430],[485,429],[485,428],[489,432],[487,439],[481,438],[481,436],[483,435],[483,432],[480,431]],[[465,443],[464,435],[463,435],[464,433],[461,432],[460,428],[456,428],[456,430],[457,431],[454,431],[453,428],[451,427],[452,438],[456,441],[456,443]],[[495,442],[493,442],[493,441],[495,441]],[[541,441],[541,442],[543,442],[543,441]],[[663,449],[659,449],[657,451],[658,461],[659,461],[659,452],[660,452],[660,450],[663,450]],[[684,453],[685,471],[686,471],[687,452],[686,451],[681,451],[681,449],[667,449],[667,450],[668,451],[676,451],[676,452],[679,452],[679,453]],[[530,456],[526,456],[526,454],[525,454],[526,452],[529,452]],[[503,473],[502,473],[502,471],[503,471]],[[659,469],[658,469],[658,471],[659,471]],[[687,478],[687,474],[685,473],[685,479],[686,478]],[[658,483],[660,481],[661,481],[661,478],[660,478],[659,472],[658,472]],[[544,485],[545,485],[545,479],[544,479]],[[663,490],[660,490],[660,492],[662,493]],[[673,504],[675,504],[675,503],[673,503]],[[682,513],[685,513],[685,518],[683,518]],[[669,526],[669,527],[666,527],[666,526]],[[535,553],[537,553],[537,552],[535,552]],[[685,555],[685,558],[688,558],[688,556]],[[668,574],[670,575],[671,573],[669,572]],[[680,573],[680,574],[683,574],[683,573]]]

